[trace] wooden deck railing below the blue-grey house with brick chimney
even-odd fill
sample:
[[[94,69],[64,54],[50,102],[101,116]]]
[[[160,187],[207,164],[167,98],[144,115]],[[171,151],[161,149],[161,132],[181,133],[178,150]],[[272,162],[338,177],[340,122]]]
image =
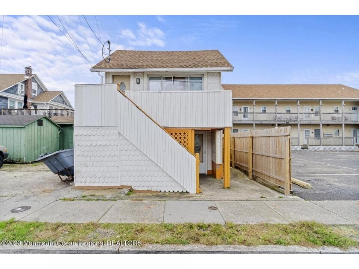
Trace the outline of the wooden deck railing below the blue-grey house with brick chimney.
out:
[[[51,117],[74,117],[72,109],[1,109],[1,115],[44,115]]]

